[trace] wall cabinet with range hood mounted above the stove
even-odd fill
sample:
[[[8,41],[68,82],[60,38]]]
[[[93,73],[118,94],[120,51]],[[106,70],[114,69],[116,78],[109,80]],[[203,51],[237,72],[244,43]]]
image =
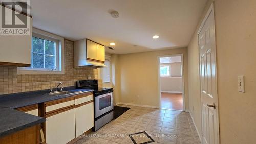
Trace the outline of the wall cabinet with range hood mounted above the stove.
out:
[[[93,68],[108,67],[105,62],[105,46],[89,39],[74,42],[74,66]]]

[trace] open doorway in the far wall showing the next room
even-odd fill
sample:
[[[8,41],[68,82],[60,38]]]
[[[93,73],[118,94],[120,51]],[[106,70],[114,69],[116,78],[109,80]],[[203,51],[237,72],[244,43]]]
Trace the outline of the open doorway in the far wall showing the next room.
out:
[[[158,57],[160,108],[184,110],[183,55]]]

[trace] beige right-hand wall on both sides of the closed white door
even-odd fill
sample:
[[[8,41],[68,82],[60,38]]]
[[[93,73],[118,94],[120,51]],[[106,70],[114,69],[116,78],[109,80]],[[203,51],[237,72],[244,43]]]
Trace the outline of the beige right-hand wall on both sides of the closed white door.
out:
[[[214,6],[220,142],[255,143],[256,1],[215,0]],[[196,33],[188,46],[188,61],[189,108],[201,131]],[[238,75],[245,76],[245,93],[238,92]]]

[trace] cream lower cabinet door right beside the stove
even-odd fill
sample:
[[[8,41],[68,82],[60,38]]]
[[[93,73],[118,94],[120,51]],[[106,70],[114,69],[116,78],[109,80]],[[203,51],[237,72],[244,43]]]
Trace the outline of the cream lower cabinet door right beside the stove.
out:
[[[76,117],[76,137],[94,126],[94,107],[93,102],[75,108]]]

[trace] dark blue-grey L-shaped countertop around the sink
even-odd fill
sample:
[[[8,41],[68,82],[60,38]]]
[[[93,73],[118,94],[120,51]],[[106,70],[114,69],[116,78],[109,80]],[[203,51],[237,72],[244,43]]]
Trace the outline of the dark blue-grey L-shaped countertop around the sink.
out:
[[[80,91],[80,93],[93,92],[90,89],[74,89],[72,87],[63,90]],[[0,137],[46,121],[45,118],[13,109],[67,98],[77,94],[50,96],[48,95],[49,92],[50,90],[39,90],[0,95]]]

